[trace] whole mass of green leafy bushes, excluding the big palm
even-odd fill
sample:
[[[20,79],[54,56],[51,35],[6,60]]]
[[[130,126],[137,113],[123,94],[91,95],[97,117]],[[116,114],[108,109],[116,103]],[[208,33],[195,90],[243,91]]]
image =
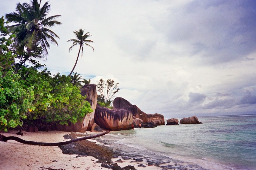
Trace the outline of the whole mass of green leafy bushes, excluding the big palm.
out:
[[[70,76],[52,75],[47,68],[39,71],[42,65],[36,61],[33,66],[25,65],[20,58],[26,57],[27,51],[16,53],[19,41],[9,32],[3,17],[0,42],[0,130],[24,123],[45,130],[54,124],[75,123],[92,112]],[[32,49],[29,56],[42,53],[42,48]]]

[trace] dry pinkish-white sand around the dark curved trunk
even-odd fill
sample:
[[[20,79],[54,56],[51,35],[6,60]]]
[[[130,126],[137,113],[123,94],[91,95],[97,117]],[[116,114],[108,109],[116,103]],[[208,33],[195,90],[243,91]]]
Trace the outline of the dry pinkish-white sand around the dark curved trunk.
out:
[[[4,136],[16,136],[24,140],[37,141],[37,142],[63,142],[65,134],[70,132],[61,131],[49,131],[49,132],[38,132],[30,133],[23,132],[23,136],[16,135],[18,131],[10,131],[9,133],[0,133]],[[92,132],[87,132],[90,134],[95,134]],[[69,139],[68,139],[69,140]],[[95,142],[94,140],[91,140]],[[101,163],[95,163],[98,161],[92,156],[81,156],[76,158],[77,155],[67,155],[63,154],[58,146],[34,146],[21,144],[14,140],[8,140],[7,142],[0,141],[0,170],[21,170],[21,169],[107,169],[101,167]],[[114,161],[120,158],[112,159]],[[124,160],[123,160],[124,161]],[[137,162],[130,162],[131,160],[126,160],[122,163],[118,162],[120,167],[125,167],[128,165],[133,165],[136,169],[159,169],[155,166],[147,166],[146,162],[140,162],[147,167],[138,167]]]

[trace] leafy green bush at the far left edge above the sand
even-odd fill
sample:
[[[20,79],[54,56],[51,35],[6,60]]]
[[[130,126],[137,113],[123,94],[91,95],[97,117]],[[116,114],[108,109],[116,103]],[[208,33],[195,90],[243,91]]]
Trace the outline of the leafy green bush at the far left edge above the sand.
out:
[[[22,120],[35,109],[33,86],[23,88],[19,80],[20,76],[12,69],[5,75],[0,71],[0,130],[22,126]]]

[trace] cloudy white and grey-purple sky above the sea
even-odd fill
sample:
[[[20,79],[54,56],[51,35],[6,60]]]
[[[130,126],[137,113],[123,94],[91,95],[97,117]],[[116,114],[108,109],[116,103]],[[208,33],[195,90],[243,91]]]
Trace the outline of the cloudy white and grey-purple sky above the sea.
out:
[[[0,0],[0,15],[22,0]],[[42,3],[45,3],[42,0]],[[256,114],[256,1],[49,0],[60,39],[42,61],[68,75],[79,47],[74,31],[90,32],[74,72],[96,84],[119,83],[123,97],[165,118]]]

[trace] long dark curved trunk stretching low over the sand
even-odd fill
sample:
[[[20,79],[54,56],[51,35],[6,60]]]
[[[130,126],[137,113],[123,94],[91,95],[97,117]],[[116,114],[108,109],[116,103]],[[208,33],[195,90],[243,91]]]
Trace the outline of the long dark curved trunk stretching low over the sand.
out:
[[[35,141],[28,141],[28,140],[23,140],[21,138],[18,138],[16,136],[4,136],[0,134],[0,141],[7,142],[8,140],[15,140],[17,142],[20,142],[22,144],[28,144],[28,145],[39,145],[39,146],[60,146],[60,145],[65,145],[65,144],[71,144],[73,142],[81,141],[81,140],[86,140],[86,139],[92,139],[92,138],[97,138],[100,136],[103,136],[105,134],[109,133],[109,131],[93,135],[93,136],[86,136],[83,138],[77,138],[77,139],[71,139],[69,141],[65,142],[56,142],[56,143],[45,143],[45,142],[35,142]]]

